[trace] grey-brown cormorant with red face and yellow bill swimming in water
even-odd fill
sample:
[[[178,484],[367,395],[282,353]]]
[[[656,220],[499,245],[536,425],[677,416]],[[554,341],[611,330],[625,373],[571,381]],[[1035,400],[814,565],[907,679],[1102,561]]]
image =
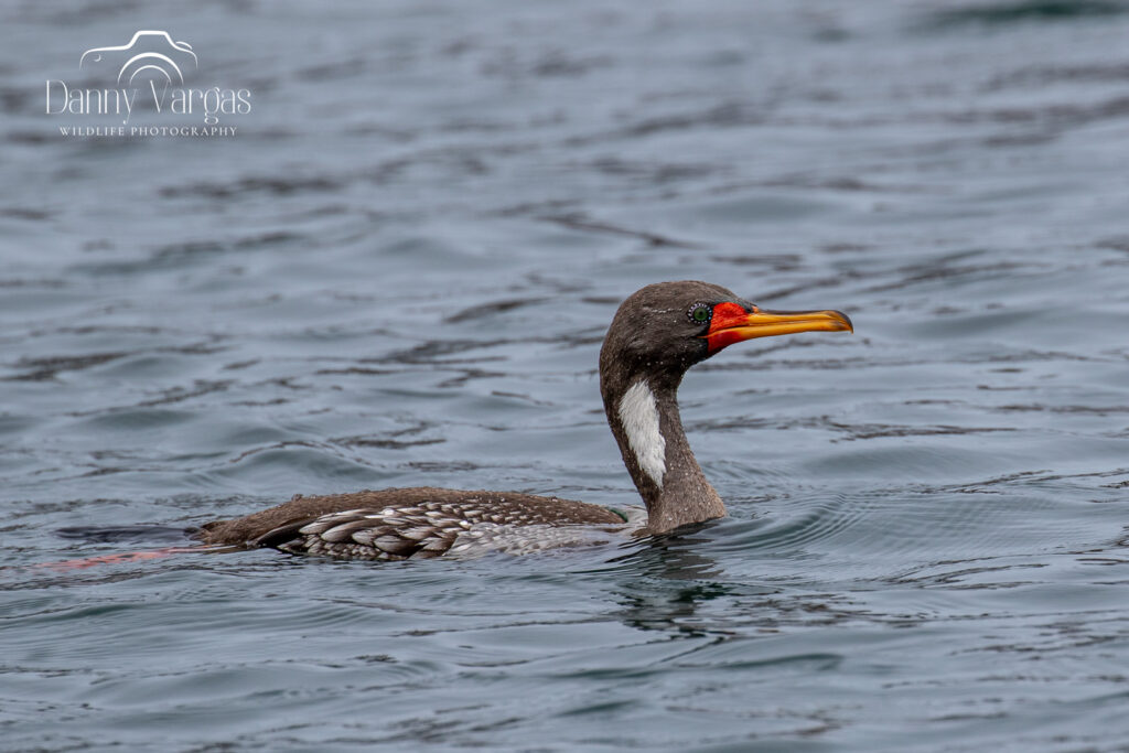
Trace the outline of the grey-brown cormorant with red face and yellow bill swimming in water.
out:
[[[725,515],[686,441],[677,388],[694,364],[743,340],[809,331],[854,332],[835,310],[772,312],[716,284],[659,282],[619,307],[599,351],[599,391],[646,519],[598,505],[520,492],[413,487],[288,502],[205,524],[208,544],[273,546],[295,554],[403,560],[526,553],[610,531],[651,535]]]

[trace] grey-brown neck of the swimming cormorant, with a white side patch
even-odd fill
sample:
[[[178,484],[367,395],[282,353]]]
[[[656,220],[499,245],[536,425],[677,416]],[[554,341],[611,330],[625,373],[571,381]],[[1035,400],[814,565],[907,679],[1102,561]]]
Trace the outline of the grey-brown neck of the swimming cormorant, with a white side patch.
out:
[[[640,377],[618,395],[605,393],[604,409],[623,463],[647,504],[645,533],[725,515],[721,498],[686,441],[676,383],[653,384]]]

